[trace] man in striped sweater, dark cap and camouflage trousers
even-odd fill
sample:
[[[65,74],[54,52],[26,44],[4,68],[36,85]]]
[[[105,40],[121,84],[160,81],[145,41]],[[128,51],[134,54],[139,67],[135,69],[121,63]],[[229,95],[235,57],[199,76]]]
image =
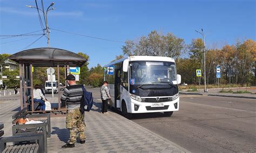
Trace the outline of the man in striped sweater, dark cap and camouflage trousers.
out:
[[[80,102],[83,96],[82,85],[76,84],[76,78],[74,75],[68,75],[66,81],[69,84],[64,89],[61,97],[62,102],[66,102],[66,128],[69,129],[69,141],[63,145],[62,148],[73,148],[77,141],[77,132],[80,139],[80,143],[85,143],[85,123],[84,114],[80,112]]]

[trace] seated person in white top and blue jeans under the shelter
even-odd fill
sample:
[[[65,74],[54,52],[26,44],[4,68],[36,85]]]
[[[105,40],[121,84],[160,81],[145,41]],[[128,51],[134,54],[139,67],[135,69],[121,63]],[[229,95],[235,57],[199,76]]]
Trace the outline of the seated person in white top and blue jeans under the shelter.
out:
[[[45,97],[41,91],[41,89],[39,88],[39,85],[35,85],[34,89],[33,89],[33,101],[34,102],[39,102],[39,106],[40,106],[40,110],[43,110],[45,113]],[[33,108],[32,108],[33,109]]]

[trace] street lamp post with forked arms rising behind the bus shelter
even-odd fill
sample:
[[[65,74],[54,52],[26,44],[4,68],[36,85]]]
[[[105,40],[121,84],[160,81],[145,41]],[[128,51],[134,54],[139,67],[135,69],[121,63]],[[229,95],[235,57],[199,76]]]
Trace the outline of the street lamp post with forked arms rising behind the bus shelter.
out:
[[[48,26],[48,18],[47,18],[47,14],[48,14],[48,12],[50,11],[50,10],[53,10],[54,8],[51,8],[50,9],[50,7],[51,6],[53,6],[55,3],[54,2],[52,2],[49,6],[48,6],[48,8],[46,9],[46,12],[44,12],[44,10],[41,10],[41,9],[39,9],[39,8],[36,8],[35,6],[31,6],[31,5],[26,5],[28,8],[34,8],[34,9],[38,9],[38,10],[40,10],[40,11],[42,11],[43,12],[43,15],[44,15],[44,19],[45,19],[45,28],[46,28],[46,33],[47,33],[47,45],[48,45],[48,47],[50,47],[50,35],[49,35],[49,26]],[[53,96],[54,96],[54,94],[53,94],[53,82],[52,82],[52,71],[51,71],[51,67],[50,67],[50,78],[51,78],[51,94],[52,94],[52,98],[53,98]],[[57,86],[57,85],[56,85]]]

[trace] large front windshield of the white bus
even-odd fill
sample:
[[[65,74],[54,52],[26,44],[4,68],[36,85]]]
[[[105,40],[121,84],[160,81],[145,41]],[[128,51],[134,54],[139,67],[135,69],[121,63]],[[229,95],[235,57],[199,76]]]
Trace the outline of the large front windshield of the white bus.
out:
[[[177,80],[174,62],[132,61],[130,64],[131,85],[169,83]]]

